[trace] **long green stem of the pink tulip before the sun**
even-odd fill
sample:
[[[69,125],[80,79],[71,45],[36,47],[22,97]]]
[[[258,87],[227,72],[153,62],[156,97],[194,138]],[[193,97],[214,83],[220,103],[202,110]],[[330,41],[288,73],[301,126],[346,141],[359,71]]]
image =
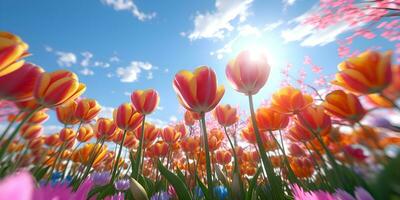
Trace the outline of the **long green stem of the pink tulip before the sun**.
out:
[[[253,124],[254,134],[256,136],[257,147],[260,152],[260,157],[263,162],[264,170],[267,173],[268,181],[271,185],[271,192],[270,192],[271,198],[274,200],[284,199],[285,193],[284,193],[284,189],[282,187],[282,180],[275,174],[272,163],[268,159],[264,145],[262,143],[260,131],[257,126],[256,115],[254,113],[254,103],[253,103],[252,95],[249,95],[249,107],[250,107],[250,114],[251,114],[251,122]]]

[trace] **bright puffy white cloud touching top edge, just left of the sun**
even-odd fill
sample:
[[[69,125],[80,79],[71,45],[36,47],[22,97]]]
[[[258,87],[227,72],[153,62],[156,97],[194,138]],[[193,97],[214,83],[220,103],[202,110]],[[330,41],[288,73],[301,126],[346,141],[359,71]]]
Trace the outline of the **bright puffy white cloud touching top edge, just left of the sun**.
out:
[[[216,11],[198,13],[194,19],[194,30],[184,33],[190,40],[202,38],[223,38],[226,32],[234,30],[231,21],[239,18],[246,20],[248,8],[253,0],[216,0]]]

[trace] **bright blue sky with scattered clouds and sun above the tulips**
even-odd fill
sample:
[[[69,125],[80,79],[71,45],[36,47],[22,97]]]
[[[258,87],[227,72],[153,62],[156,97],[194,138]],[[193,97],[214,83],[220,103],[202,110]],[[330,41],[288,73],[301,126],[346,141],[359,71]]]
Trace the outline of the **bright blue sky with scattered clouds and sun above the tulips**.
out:
[[[152,121],[160,125],[180,120],[182,111],[172,89],[181,69],[208,65],[226,87],[223,103],[247,108],[247,99],[229,86],[224,70],[240,50],[266,48],[272,74],[256,103],[280,84],[280,70],[291,64],[291,74],[310,66],[304,57],[334,74],[338,57],[336,39],[355,27],[338,24],[325,31],[299,23],[315,8],[311,0],[3,0],[0,27],[30,45],[27,60],[46,71],[68,69],[87,85],[85,97],[105,108],[103,116],[136,89],[155,88],[160,107]],[[382,39],[356,40],[355,49],[370,46],[383,50],[394,45]],[[53,120],[47,125],[56,124]]]

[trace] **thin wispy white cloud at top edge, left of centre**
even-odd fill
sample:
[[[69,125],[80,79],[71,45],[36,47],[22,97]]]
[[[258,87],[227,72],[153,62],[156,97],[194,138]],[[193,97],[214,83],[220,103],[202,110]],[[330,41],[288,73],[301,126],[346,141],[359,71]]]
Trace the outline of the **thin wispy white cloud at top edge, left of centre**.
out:
[[[140,21],[150,20],[156,16],[155,12],[144,13],[140,11],[133,0],[101,0],[101,2],[113,7],[116,11],[130,11]]]

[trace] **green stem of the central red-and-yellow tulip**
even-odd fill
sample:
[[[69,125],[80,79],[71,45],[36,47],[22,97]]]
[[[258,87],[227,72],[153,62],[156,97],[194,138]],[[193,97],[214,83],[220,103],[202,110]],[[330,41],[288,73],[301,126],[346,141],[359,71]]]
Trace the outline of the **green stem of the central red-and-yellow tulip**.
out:
[[[213,180],[212,180],[212,171],[211,171],[211,159],[210,159],[210,150],[208,147],[208,136],[207,136],[207,127],[206,127],[206,117],[205,113],[201,114],[201,130],[203,131],[203,141],[204,141],[204,150],[206,154],[206,170],[207,170],[207,185],[208,185],[208,193],[211,199],[214,199],[214,190],[213,190]]]

